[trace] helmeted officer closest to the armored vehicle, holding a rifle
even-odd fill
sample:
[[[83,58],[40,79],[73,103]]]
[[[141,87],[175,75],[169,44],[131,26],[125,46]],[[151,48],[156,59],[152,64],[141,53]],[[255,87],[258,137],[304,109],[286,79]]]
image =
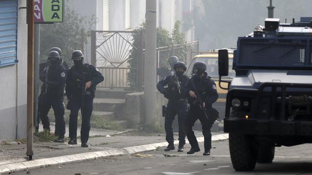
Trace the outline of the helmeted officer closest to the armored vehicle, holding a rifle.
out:
[[[212,115],[212,105],[218,99],[218,93],[216,90],[215,82],[207,75],[206,65],[204,62],[196,62],[193,67],[193,77],[188,81],[187,88],[189,91],[189,104],[190,110],[186,119],[184,130],[186,136],[191,144],[191,150],[187,154],[194,154],[199,152],[198,142],[194,135],[192,127],[197,119],[201,122],[202,133],[204,135],[204,156],[210,155],[211,149],[211,132],[210,129],[215,122],[215,115]],[[206,110],[201,109],[198,96],[203,102],[202,107]],[[206,112],[208,118],[203,112]],[[210,119],[211,118],[211,119]]]

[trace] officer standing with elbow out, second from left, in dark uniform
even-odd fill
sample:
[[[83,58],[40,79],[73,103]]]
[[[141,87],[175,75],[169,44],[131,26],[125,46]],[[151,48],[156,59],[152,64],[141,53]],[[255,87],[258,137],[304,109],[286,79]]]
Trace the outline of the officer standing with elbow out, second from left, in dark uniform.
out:
[[[81,109],[81,147],[88,147],[93,99],[96,86],[104,80],[104,77],[94,66],[83,63],[81,51],[74,51],[72,59],[74,66],[68,70],[66,78],[67,108],[70,109],[68,144],[77,144],[77,118],[78,111]]]

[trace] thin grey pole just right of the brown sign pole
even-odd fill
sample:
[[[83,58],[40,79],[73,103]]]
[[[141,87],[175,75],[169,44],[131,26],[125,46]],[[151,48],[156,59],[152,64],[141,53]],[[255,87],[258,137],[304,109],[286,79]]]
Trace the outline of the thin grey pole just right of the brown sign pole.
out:
[[[40,24],[35,24],[35,62],[34,62],[34,123],[38,126],[38,96],[39,96],[39,63],[40,63]]]

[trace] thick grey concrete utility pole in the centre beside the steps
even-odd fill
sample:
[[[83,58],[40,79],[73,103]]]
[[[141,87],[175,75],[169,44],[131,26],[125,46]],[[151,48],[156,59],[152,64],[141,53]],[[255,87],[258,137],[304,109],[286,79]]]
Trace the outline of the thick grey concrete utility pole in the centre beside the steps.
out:
[[[153,125],[156,112],[156,0],[146,0],[144,59],[144,124]]]

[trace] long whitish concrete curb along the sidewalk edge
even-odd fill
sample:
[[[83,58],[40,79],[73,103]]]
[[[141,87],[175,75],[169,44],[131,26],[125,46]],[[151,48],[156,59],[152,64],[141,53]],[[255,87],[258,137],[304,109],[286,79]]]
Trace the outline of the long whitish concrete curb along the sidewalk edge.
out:
[[[229,138],[228,134],[218,134],[218,135],[212,136],[213,141],[226,140],[228,138]],[[197,141],[203,142],[204,138],[203,137],[197,138]],[[186,142],[188,143],[188,141]],[[123,150],[125,153],[128,153],[128,154],[135,154],[138,152],[156,150],[159,147],[167,146],[167,144],[168,144],[167,142],[152,143],[152,144],[125,147],[125,148],[122,148],[121,150]],[[178,144],[178,140],[175,141],[175,144]],[[30,170],[30,169],[39,168],[39,167],[48,167],[48,166],[53,166],[53,165],[60,165],[60,164],[65,164],[65,163],[85,161],[85,160],[97,159],[97,158],[102,158],[102,157],[117,156],[117,155],[125,154],[121,150],[111,149],[111,150],[105,150],[105,151],[88,152],[88,153],[81,153],[81,154],[68,155],[68,156],[42,158],[42,159],[31,160],[31,161],[2,164],[0,165],[0,174],[13,173],[17,171]]]

